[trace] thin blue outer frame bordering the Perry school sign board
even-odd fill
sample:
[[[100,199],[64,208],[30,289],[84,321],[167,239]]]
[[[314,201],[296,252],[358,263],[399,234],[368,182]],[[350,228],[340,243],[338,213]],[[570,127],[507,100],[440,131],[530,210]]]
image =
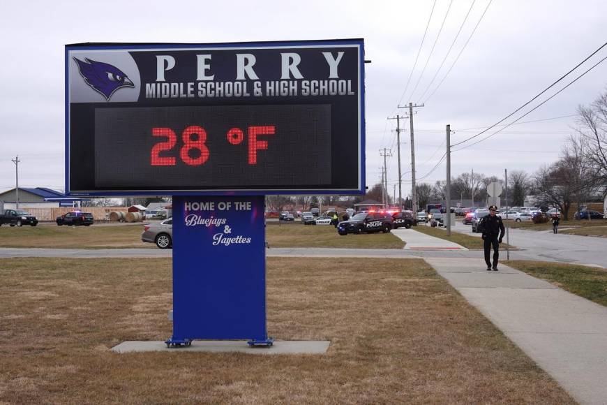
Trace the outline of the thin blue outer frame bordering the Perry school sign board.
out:
[[[165,50],[166,52],[172,52],[172,50],[197,50],[198,48],[204,48],[207,50],[253,50],[257,48],[301,48],[302,50],[308,47],[323,47],[323,46],[355,46],[358,52],[358,82],[357,82],[357,115],[358,115],[358,134],[357,134],[357,145],[349,144],[347,148],[350,150],[357,150],[358,156],[358,184],[355,187],[348,186],[347,188],[339,187],[319,187],[314,186],[303,189],[290,189],[285,187],[267,189],[254,188],[254,189],[200,189],[200,190],[180,190],[180,189],[111,189],[111,190],[94,190],[94,189],[73,189],[73,184],[70,182],[70,172],[72,170],[70,161],[74,156],[71,155],[70,145],[70,80],[73,80],[73,66],[72,73],[70,74],[70,62],[73,62],[73,52],[84,52],[84,51],[146,51],[146,50]],[[211,51],[209,51],[211,52]],[[297,195],[297,194],[347,194],[356,195],[365,193],[365,87],[364,87],[364,41],[362,39],[345,39],[345,40],[301,40],[301,41],[270,41],[270,42],[255,42],[255,43],[215,43],[215,44],[115,44],[115,43],[84,43],[84,44],[73,44],[66,45],[65,53],[66,61],[66,194],[70,196],[190,196],[190,195],[205,195],[205,196],[256,196],[260,194],[286,194],[286,195]],[[82,72],[80,73],[82,75]],[[78,80],[82,82],[82,78],[78,77]],[[93,94],[94,92],[91,91]],[[117,92],[117,94],[119,91]],[[287,97],[288,98],[288,97]],[[287,99],[283,98],[283,99]],[[313,98],[309,99],[310,103],[317,103]],[[246,103],[246,101],[243,101]],[[280,104],[280,99],[276,102]],[[128,105],[128,103],[122,103]],[[96,105],[110,105],[105,103],[96,103]],[[117,103],[112,104],[112,107]],[[131,103],[130,105],[133,105]],[[137,105],[137,103],[135,103]],[[167,104],[168,105],[168,104]],[[354,112],[352,112],[354,115]],[[322,146],[322,145],[321,145]],[[336,156],[336,155],[334,155]],[[90,160],[90,159],[89,159]],[[335,159],[334,159],[335,160]],[[336,163],[333,163],[335,165]]]

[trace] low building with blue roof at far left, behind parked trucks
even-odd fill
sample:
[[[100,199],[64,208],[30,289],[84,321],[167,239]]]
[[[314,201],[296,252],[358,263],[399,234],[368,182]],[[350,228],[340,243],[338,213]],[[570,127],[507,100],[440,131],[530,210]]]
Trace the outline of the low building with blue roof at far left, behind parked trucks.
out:
[[[16,190],[12,189],[0,193],[0,205],[3,205],[3,209],[15,208],[17,200]],[[78,207],[82,201],[90,201],[90,199],[67,197],[59,191],[46,189],[45,187],[36,187],[35,189],[19,188],[20,208]]]

